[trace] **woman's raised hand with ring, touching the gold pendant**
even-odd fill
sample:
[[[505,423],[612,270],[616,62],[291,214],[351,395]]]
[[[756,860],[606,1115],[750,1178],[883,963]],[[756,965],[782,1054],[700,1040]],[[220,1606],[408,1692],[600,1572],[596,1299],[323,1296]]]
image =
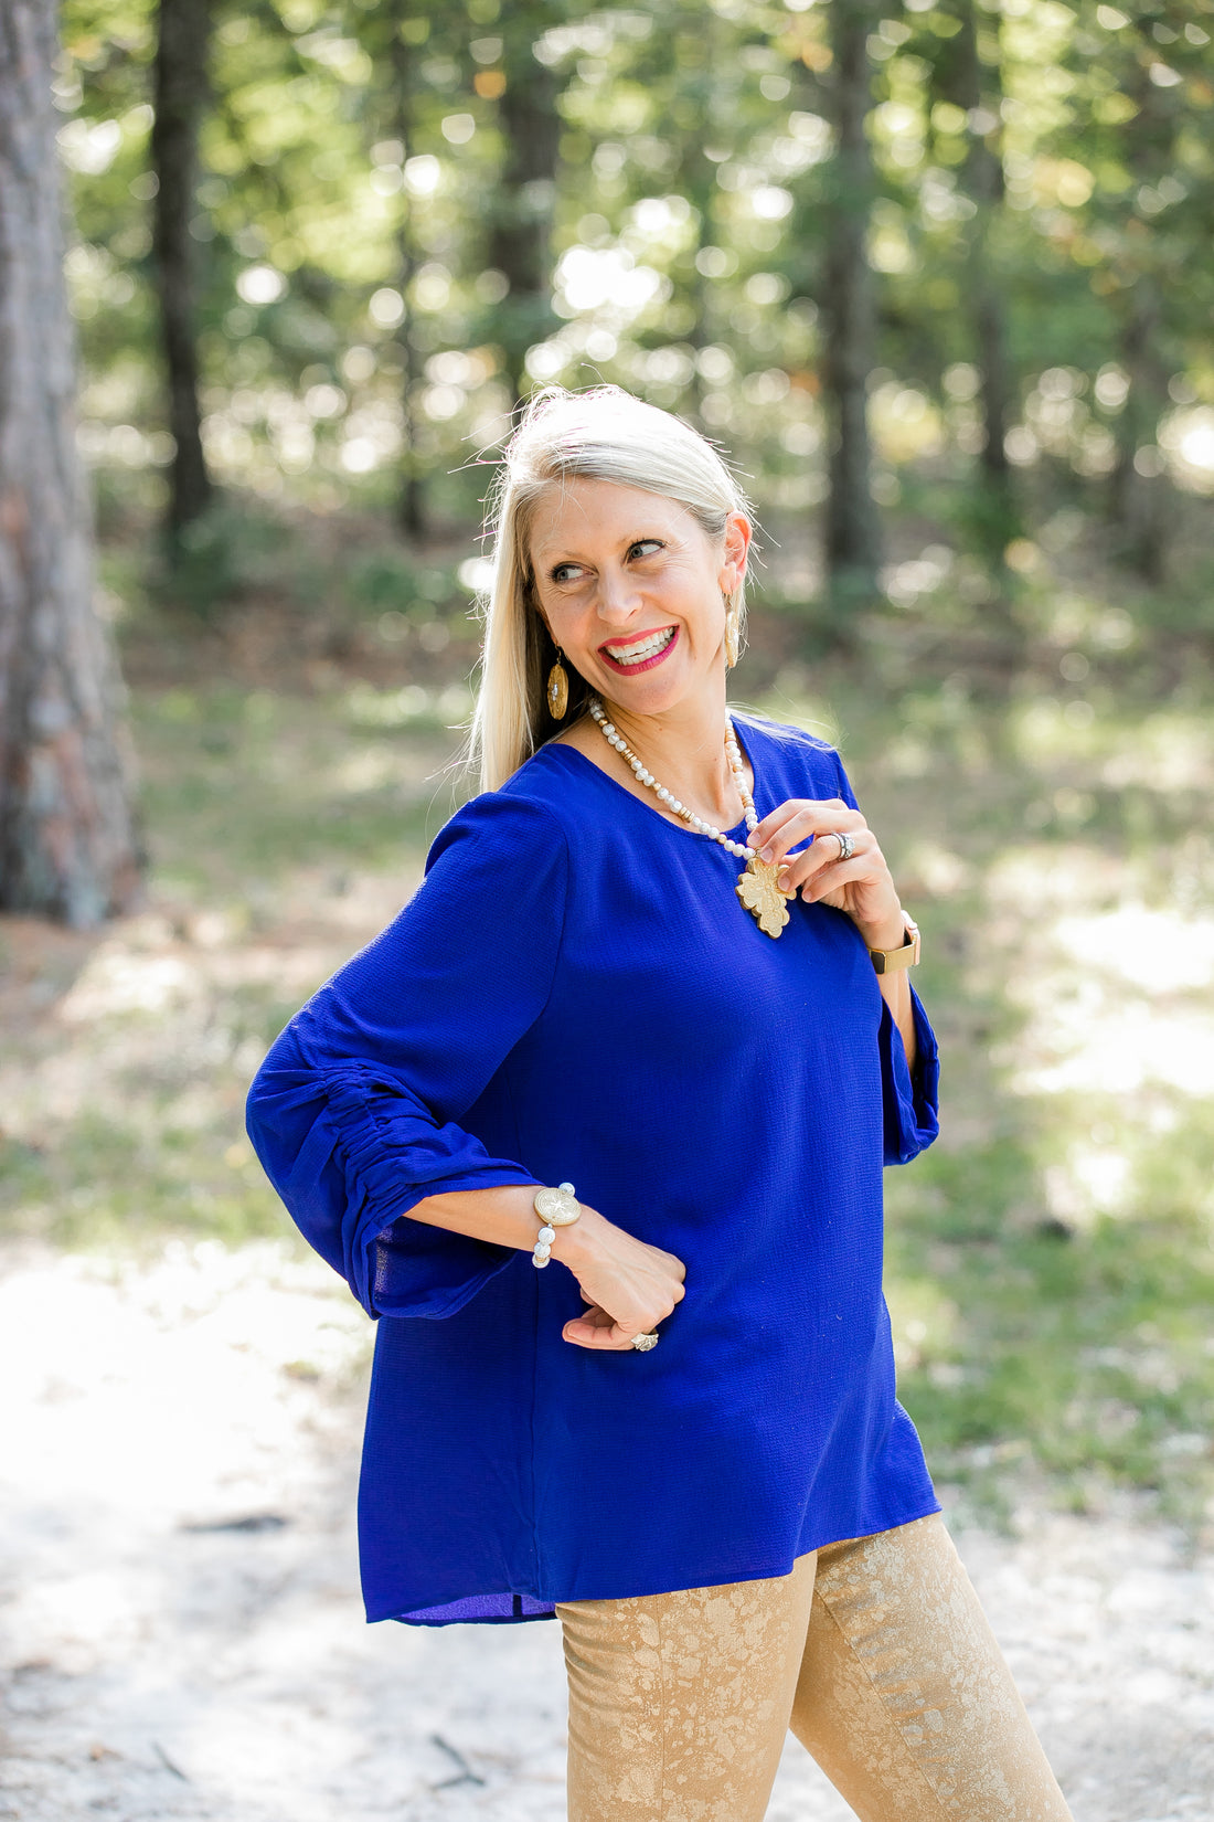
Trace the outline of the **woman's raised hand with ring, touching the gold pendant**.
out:
[[[834,834],[852,838],[852,858],[839,860]],[[788,856],[799,842],[810,845]],[[877,838],[843,798],[788,798],[748,836],[763,860],[777,864],[781,891],[806,904],[846,911],[870,949],[895,949],[905,937],[903,907]],[[788,858],[784,858],[788,856]]]

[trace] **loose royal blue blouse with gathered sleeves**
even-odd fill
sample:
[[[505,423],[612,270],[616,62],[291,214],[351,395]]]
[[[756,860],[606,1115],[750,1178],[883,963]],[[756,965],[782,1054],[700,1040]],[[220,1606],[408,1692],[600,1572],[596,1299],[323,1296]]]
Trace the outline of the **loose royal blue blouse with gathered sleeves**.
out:
[[[766,816],[854,802],[839,756],[735,718]],[[744,840],[744,824],[732,831]],[[309,1243],[379,1323],[359,1494],[369,1620],[779,1576],[936,1512],[894,1397],[881,1168],[936,1137],[855,926],[741,906],[737,856],[568,745],[440,831],[415,896],[313,995],[249,1093]],[[686,1264],[646,1354],[562,1339],[559,1263],[410,1219],[572,1181]]]

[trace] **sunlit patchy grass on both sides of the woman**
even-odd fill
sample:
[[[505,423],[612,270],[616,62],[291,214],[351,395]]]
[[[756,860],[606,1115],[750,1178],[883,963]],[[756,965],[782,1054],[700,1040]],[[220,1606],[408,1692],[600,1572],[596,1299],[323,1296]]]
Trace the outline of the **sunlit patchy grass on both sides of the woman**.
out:
[[[1012,674],[965,656],[956,603],[872,623],[850,661],[797,656],[790,612],[739,678],[841,740],[925,929],[945,1057],[943,1135],[888,1173],[901,1396],[936,1470],[986,1510],[1036,1474],[1079,1509],[1134,1489],[1198,1532],[1214,1512],[1209,670],[1123,599],[1063,587],[1017,603]],[[444,767],[466,711],[433,669],[424,687],[326,676],[275,692],[200,661],[137,689],[151,907],[38,962],[0,1062],[5,1232],[291,1232],[242,1135],[248,1080],[413,889],[460,794]],[[1138,937],[1110,922],[1127,907]],[[1185,944],[1194,966],[1168,973]]]

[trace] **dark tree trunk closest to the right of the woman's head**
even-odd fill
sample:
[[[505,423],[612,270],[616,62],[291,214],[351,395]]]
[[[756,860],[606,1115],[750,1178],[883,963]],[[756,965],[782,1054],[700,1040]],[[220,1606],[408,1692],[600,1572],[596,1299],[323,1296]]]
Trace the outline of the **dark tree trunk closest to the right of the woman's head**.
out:
[[[866,38],[874,18],[870,0],[834,0],[835,157],[828,171],[823,279],[823,394],[830,423],[825,554],[830,592],[848,601],[877,596],[881,574],[881,521],[872,497],[868,443],[875,304],[868,264],[874,168],[865,118],[872,98]]]

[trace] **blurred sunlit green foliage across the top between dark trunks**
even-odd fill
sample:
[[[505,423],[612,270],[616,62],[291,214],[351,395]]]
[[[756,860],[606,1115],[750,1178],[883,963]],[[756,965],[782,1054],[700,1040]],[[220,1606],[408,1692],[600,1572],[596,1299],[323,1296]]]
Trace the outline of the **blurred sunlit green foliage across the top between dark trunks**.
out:
[[[466,523],[482,492],[468,457],[501,439],[530,333],[531,383],[612,379],[686,412],[728,443],[761,516],[812,512],[828,26],[821,5],[759,0],[217,5],[191,233],[220,483],[333,512],[393,507],[424,479],[428,519]],[[171,454],[149,290],[153,31],[151,0],[64,13],[84,435],[111,516],[157,508]],[[957,547],[997,558],[1045,503],[1110,499],[1130,537],[1130,494],[1154,499],[1152,477],[1214,490],[1210,35],[1210,0],[957,0],[879,22],[870,415],[886,508],[936,488]],[[551,195],[504,188],[519,84],[553,95]],[[490,262],[528,210],[550,220],[551,308],[506,295]],[[1010,492],[976,465],[974,261],[1007,317]]]

